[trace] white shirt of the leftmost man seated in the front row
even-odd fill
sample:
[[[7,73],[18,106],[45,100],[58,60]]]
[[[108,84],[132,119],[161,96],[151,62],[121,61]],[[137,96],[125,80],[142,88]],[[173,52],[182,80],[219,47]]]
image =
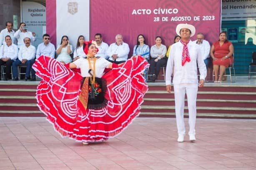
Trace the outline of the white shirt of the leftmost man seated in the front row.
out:
[[[14,61],[18,58],[18,47],[15,44],[11,44],[9,47],[7,44],[3,44],[0,47],[0,58],[10,58]]]

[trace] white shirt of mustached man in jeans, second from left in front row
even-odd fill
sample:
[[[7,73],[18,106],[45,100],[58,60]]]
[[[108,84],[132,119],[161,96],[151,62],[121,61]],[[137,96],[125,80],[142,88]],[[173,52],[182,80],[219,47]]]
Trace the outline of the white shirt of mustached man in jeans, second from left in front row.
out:
[[[22,59],[27,59],[27,60],[34,59],[35,58],[35,47],[33,45],[30,45],[29,47],[22,45],[19,50],[18,58],[20,61]]]

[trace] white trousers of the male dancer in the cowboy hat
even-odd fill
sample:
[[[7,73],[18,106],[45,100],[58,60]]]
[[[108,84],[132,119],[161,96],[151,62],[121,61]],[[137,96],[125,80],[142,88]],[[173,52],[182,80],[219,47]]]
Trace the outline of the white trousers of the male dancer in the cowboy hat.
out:
[[[198,84],[195,83],[183,83],[173,84],[174,97],[175,97],[175,113],[176,123],[179,135],[185,135],[185,123],[184,123],[184,106],[185,106],[185,93],[188,99],[188,123],[189,132],[188,135],[196,135],[196,96],[198,91]]]

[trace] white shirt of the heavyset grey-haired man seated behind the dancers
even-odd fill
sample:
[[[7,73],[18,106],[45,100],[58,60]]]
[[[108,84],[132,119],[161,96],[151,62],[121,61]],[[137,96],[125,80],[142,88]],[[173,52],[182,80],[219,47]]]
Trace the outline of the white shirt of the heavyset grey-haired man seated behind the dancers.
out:
[[[120,61],[126,61],[128,59],[128,54],[130,52],[129,45],[123,42],[120,45],[117,45],[116,43],[110,44],[107,50],[107,55],[109,57],[109,60],[114,61],[112,55],[117,54],[118,58],[115,60],[117,62]]]

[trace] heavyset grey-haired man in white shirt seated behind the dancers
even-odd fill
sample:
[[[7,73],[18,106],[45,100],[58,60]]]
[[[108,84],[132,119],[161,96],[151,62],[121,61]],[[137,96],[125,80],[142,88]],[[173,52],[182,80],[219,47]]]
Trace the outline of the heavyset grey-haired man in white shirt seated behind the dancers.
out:
[[[115,36],[115,43],[110,44],[107,50],[107,55],[109,57],[108,61],[115,64],[124,63],[128,59],[129,52],[129,45],[123,42],[121,34],[117,34]]]

